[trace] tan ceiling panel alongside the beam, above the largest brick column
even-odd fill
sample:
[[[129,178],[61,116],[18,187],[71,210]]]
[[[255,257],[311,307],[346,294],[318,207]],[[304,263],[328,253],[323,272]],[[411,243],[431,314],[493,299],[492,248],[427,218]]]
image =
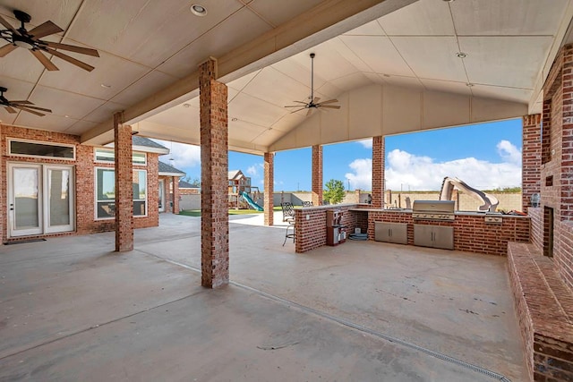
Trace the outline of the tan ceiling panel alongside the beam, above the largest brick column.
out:
[[[248,25],[248,28],[245,28],[245,25]],[[241,46],[270,29],[269,24],[243,8],[168,58],[164,64],[158,66],[158,70],[183,77],[189,72],[194,72],[199,64],[209,58],[209,55],[214,57],[224,55],[232,47]],[[210,53],[207,55],[206,52]]]

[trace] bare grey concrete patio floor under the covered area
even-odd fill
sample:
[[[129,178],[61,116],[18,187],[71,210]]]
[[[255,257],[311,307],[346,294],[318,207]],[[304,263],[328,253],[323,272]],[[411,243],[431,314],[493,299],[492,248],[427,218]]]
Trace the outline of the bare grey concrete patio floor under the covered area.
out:
[[[231,284],[201,287],[201,220],[0,248],[0,380],[527,379],[505,258],[352,242],[296,254],[230,218]],[[275,216],[280,223],[280,214]]]

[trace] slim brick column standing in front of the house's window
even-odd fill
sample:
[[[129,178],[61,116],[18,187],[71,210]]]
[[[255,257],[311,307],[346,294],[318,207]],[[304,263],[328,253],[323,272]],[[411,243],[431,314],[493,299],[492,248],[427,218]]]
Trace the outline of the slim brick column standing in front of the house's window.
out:
[[[114,115],[115,139],[115,250],[133,250],[132,126],[124,125],[124,113]]]

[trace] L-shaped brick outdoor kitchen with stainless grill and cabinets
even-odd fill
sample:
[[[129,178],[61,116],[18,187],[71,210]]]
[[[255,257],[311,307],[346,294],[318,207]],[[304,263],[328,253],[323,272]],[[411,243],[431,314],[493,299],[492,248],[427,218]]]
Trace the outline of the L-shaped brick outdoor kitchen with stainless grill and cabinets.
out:
[[[356,228],[369,241],[466,250],[505,256],[508,242],[528,242],[528,216],[499,212],[455,211],[450,200],[415,200],[411,209],[372,208],[368,204],[342,204],[342,225]],[[333,206],[295,211],[295,250],[302,253],[327,245],[327,210]]]

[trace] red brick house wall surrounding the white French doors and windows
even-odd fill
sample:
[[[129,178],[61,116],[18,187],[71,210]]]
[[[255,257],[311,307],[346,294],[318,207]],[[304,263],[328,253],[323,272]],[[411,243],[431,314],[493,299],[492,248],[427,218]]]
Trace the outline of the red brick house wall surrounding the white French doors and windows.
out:
[[[35,163],[50,165],[73,166],[75,173],[75,224],[76,230],[73,233],[50,233],[41,237],[54,237],[70,234],[101,233],[115,230],[115,220],[96,220],[95,218],[95,170],[94,167],[110,167],[113,164],[96,163],[94,160],[94,148],[80,144],[80,137],[60,132],[47,132],[34,129],[25,129],[16,126],[2,125],[0,127],[0,144],[2,156],[2,174],[6,173],[6,163]],[[41,157],[19,157],[7,156],[6,138],[16,138],[22,140],[38,140],[54,143],[73,144],[76,149],[76,160],[49,159]],[[158,225],[158,154],[147,154],[147,166],[133,166],[134,169],[147,170],[148,174],[148,216],[134,217],[134,227],[144,228]],[[0,216],[2,216],[2,240],[7,241],[7,229],[5,222],[7,216],[7,175],[2,177],[2,198],[0,198]],[[24,238],[11,238],[10,241],[30,239],[36,236],[25,236]]]

